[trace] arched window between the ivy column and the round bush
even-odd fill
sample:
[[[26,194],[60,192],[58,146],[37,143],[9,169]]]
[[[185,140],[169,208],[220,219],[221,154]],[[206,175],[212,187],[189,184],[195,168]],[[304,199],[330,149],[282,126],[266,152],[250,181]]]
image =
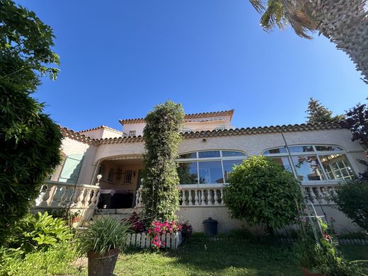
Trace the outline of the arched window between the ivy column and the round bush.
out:
[[[178,156],[180,185],[224,184],[234,165],[246,159],[241,151],[195,151]]]

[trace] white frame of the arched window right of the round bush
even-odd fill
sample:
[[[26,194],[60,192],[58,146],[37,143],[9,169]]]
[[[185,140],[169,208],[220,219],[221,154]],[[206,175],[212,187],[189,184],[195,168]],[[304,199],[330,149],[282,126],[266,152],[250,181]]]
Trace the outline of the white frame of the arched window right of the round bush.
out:
[[[313,151],[307,151],[307,152],[289,152],[289,148],[292,146],[312,146],[313,147]],[[341,151],[317,151],[316,146],[337,146],[340,149],[342,149]],[[265,154],[265,151],[269,151],[271,149],[279,149],[279,148],[285,148],[286,149],[286,153],[282,153],[282,154]],[[328,179],[328,173],[326,172],[325,168],[323,167],[323,163],[321,162],[321,159],[319,156],[321,155],[333,155],[333,154],[342,154],[345,155],[347,158],[347,161],[349,161],[352,171],[355,173],[355,176],[359,175],[359,172],[357,171],[357,168],[355,167],[355,163],[352,162],[352,157],[350,156],[349,152],[344,149],[343,146],[339,146],[337,144],[289,144],[287,146],[273,146],[272,148],[269,149],[265,149],[263,151],[263,156],[267,156],[267,157],[287,157],[287,159],[289,160],[290,166],[292,167],[292,173],[294,174],[295,178],[297,178],[297,171],[295,171],[294,168],[294,163],[292,162],[292,160],[290,159],[290,156],[316,156],[317,160],[318,160],[318,166],[320,166],[323,177],[325,178],[325,180],[304,180],[301,181],[301,184],[304,185],[308,185],[308,184],[330,184],[330,183],[338,183],[339,181],[341,181],[340,179],[333,179],[333,180],[329,180]]]

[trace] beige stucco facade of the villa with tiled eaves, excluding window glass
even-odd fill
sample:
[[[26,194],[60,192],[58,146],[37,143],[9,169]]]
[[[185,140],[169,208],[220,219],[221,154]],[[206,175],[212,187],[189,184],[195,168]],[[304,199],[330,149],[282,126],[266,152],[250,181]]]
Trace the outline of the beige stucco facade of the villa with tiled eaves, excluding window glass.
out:
[[[296,145],[318,145],[318,146],[338,146],[342,151],[347,163],[351,164],[352,172],[357,175],[364,171],[364,166],[357,162],[357,159],[365,159],[362,146],[351,141],[351,133],[342,129],[338,124],[306,124],[289,125],[276,127],[258,127],[248,129],[234,129],[231,127],[231,117],[234,110],[219,113],[197,113],[185,117],[185,127],[183,128],[183,142],[179,146],[179,154],[193,151],[240,151],[246,156],[257,156],[267,149],[275,149],[285,146]],[[102,175],[99,181],[102,190],[125,190],[133,194],[132,207],[137,207],[139,203],[140,177],[144,163],[142,154],[144,153],[144,139],[139,137],[144,129],[143,119],[120,120],[122,132],[110,129],[109,127],[96,127],[95,129],[82,132],[73,132],[63,129],[64,141],[62,152],[67,156],[82,154],[79,176],[76,183],[91,184],[97,183],[98,174]],[[199,130],[199,131],[195,131]],[[134,132],[134,137],[129,134]],[[128,134],[128,136],[126,135]],[[57,181],[62,174],[63,166],[55,172],[52,180]],[[325,173],[326,174],[326,173]],[[318,180],[303,183],[306,190],[317,195],[323,193],[338,180]],[[179,184],[179,183],[178,183]],[[225,183],[226,185],[226,183]],[[208,217],[219,221],[219,231],[226,232],[230,229],[244,225],[231,219],[228,209],[217,197],[222,195],[223,184],[208,185],[198,184],[185,186],[182,188],[192,188],[189,190],[190,199],[183,196],[183,201],[188,205],[181,205],[178,216],[188,220],[195,231],[203,231],[202,221]],[[309,188],[310,187],[310,188]],[[326,188],[325,188],[326,187]],[[212,200],[214,205],[209,205],[209,201],[201,203],[204,190],[212,189]],[[219,190],[220,189],[220,190]],[[192,193],[194,191],[194,193]],[[191,197],[193,195],[193,197]],[[209,194],[207,193],[206,196]],[[218,203],[217,203],[218,200]],[[203,201],[204,202],[204,201]],[[192,206],[191,206],[192,205]],[[343,214],[334,209],[330,202],[323,203],[323,210],[329,217],[335,219],[335,224],[341,231],[353,231],[357,226],[352,224]],[[322,214],[321,207],[317,208],[318,214]]]

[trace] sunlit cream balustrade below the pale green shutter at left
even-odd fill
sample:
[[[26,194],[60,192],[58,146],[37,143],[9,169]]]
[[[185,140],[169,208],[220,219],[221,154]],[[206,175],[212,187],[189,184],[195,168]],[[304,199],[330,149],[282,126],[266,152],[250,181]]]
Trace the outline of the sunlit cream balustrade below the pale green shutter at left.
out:
[[[35,209],[71,208],[87,209],[96,207],[100,188],[95,185],[70,184],[46,181],[35,200]]]

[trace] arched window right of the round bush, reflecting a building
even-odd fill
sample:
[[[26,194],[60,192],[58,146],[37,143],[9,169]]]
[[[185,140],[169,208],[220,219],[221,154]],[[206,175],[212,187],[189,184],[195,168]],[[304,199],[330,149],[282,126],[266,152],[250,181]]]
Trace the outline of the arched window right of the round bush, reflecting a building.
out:
[[[281,146],[268,149],[263,155],[270,156],[285,169],[292,171],[302,182],[345,180],[355,177],[347,152],[340,146]]]

